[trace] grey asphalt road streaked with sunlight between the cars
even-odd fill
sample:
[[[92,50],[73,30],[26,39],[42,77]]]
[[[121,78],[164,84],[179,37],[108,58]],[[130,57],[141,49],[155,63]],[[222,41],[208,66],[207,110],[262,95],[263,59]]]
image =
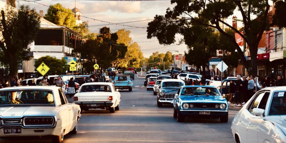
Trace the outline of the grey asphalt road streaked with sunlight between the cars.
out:
[[[158,108],[156,96],[153,91],[147,91],[143,83],[144,78],[135,77],[133,91],[120,90],[120,110],[115,113],[101,109],[83,111],[77,134],[64,136],[64,142],[234,142],[230,126],[237,110],[229,110],[228,123],[220,123],[219,119],[191,118],[177,122],[172,105]],[[52,141],[48,137],[26,137],[0,139],[0,142]]]

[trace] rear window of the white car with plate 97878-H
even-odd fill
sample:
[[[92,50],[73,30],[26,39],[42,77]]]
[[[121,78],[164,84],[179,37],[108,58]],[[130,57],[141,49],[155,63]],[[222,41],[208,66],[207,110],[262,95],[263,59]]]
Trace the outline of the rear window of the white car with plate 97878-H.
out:
[[[0,92],[0,105],[7,104],[52,104],[51,90],[9,90]]]

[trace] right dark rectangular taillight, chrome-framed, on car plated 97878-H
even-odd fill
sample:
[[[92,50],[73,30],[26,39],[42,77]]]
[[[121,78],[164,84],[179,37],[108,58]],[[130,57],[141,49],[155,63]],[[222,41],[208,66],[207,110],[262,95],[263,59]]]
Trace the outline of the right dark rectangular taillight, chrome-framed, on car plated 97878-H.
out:
[[[25,117],[24,126],[53,126],[53,117]]]

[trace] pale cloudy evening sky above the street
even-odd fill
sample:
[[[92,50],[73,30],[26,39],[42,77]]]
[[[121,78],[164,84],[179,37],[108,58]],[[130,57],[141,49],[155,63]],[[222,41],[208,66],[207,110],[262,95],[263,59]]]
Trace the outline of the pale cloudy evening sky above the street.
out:
[[[6,0],[1,0],[6,2]],[[91,1],[91,0],[40,0],[37,1],[44,5],[52,5],[56,3],[61,3],[66,8],[78,8],[81,11],[82,16],[108,21],[113,23],[121,23],[127,21],[141,21],[141,20],[148,20],[153,19],[154,16],[157,15],[164,15],[166,9],[168,7],[172,8],[176,4],[171,4],[171,1]],[[42,6],[40,4],[34,2],[24,2],[24,1],[16,1],[16,5],[30,5],[39,12],[40,10],[44,10],[44,14],[47,12],[48,7]],[[234,15],[238,17],[238,19],[242,19],[242,16],[238,11],[234,11]],[[228,24],[232,23],[232,16],[225,21]],[[88,21],[89,25],[101,25],[101,24],[108,24],[101,21],[94,21],[90,19],[86,19],[82,17],[82,21]],[[150,21],[141,21],[141,22],[133,22],[127,23],[126,25],[138,26],[138,27],[145,27],[148,26],[148,22]],[[242,22],[238,23],[238,26],[242,25]],[[122,25],[108,25],[112,32],[116,32],[117,29],[122,28],[130,28],[127,26]],[[89,27],[90,31],[97,32],[102,26],[92,26]],[[138,42],[141,46],[141,50],[145,58],[148,58],[152,53],[159,51],[159,53],[166,53],[169,50],[173,54],[177,54],[176,50],[179,51],[180,54],[184,54],[187,52],[187,46],[185,44],[176,45],[178,44],[179,40],[182,38],[182,35],[176,35],[176,42],[171,45],[160,45],[157,41],[157,38],[154,37],[152,39],[147,39],[147,32],[146,28],[134,28],[134,29],[127,29],[131,31],[131,38],[133,42]],[[143,42],[144,41],[144,42]],[[148,42],[145,42],[148,41]],[[151,42],[149,42],[151,41]]]

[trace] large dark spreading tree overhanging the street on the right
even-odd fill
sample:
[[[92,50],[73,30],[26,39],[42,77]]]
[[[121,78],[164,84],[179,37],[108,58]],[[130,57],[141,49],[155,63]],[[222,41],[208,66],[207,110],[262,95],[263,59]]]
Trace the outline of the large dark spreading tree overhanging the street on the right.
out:
[[[276,2],[277,0],[272,0]],[[284,1],[279,1],[284,2]],[[270,5],[268,0],[184,0],[184,1],[171,1],[177,5],[171,9],[168,8],[165,16],[155,16],[155,20],[149,22],[147,38],[157,37],[160,44],[172,44],[175,42],[175,34],[183,34],[185,29],[190,26],[190,21],[196,22],[199,25],[217,29],[222,35],[233,43],[233,50],[238,51],[240,60],[244,67],[247,68],[248,74],[257,74],[257,50],[258,44],[265,30],[270,27],[268,19],[268,11]],[[238,9],[242,14],[242,22],[244,24],[244,34],[239,29],[234,28],[224,21],[224,19],[233,15],[233,11]],[[286,11],[279,13],[279,16],[285,16]],[[276,11],[276,13],[278,13]],[[182,16],[184,14],[184,16]],[[194,17],[197,16],[197,17]],[[251,19],[256,16],[256,19]],[[282,18],[284,19],[284,18]],[[277,18],[277,21],[283,21]],[[279,22],[277,22],[279,23]],[[283,22],[282,22],[283,23]],[[285,22],[284,22],[285,23]],[[244,57],[244,53],[236,44],[236,40],[232,35],[226,33],[221,25],[231,28],[238,33],[249,46],[251,63],[248,63]],[[280,24],[281,26],[284,26]]]

